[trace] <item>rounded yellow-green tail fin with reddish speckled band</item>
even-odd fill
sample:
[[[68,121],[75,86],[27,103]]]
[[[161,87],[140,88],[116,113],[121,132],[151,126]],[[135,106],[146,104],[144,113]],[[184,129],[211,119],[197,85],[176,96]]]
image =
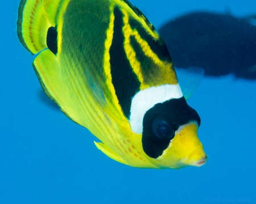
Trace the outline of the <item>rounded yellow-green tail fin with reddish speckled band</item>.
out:
[[[22,0],[19,5],[17,32],[20,42],[32,54],[47,48],[47,32],[51,27],[41,0]]]

